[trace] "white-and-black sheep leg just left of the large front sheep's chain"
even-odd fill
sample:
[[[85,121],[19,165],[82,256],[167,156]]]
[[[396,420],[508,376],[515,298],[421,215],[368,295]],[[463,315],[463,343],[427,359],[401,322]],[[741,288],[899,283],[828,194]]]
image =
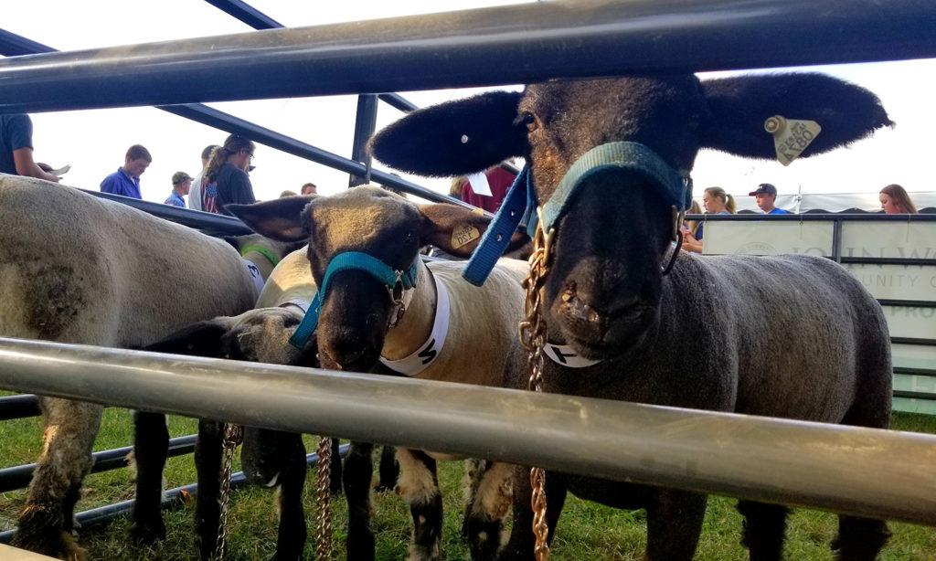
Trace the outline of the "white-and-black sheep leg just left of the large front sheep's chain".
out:
[[[469,460],[463,533],[475,561],[496,559],[513,497],[513,466]]]

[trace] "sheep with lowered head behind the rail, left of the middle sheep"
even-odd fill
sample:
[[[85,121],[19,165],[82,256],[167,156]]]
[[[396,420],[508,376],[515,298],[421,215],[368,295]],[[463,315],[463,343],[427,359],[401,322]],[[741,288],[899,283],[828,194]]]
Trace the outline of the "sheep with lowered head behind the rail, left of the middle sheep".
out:
[[[300,352],[288,338],[300,324],[315,293],[305,252],[291,252],[273,269],[263,292],[250,309],[234,317],[217,317],[188,325],[152,345],[147,351],[228,358],[271,364],[315,367],[314,347]],[[224,424],[200,420],[196,447],[198,494],[196,540],[201,559],[214,554],[219,524],[218,474],[222,461]],[[165,430],[165,429],[163,429]],[[164,451],[168,435],[140,435],[140,448]],[[145,439],[145,441],[143,440]],[[337,458],[337,443],[332,449]],[[306,539],[302,488],[305,483],[305,447],[298,434],[244,427],[241,468],[247,481],[277,487],[279,531],[277,560],[299,559]],[[155,462],[162,467],[165,454]],[[341,466],[340,461],[333,466]],[[155,469],[153,470],[155,472]],[[340,481],[340,471],[337,474]]]

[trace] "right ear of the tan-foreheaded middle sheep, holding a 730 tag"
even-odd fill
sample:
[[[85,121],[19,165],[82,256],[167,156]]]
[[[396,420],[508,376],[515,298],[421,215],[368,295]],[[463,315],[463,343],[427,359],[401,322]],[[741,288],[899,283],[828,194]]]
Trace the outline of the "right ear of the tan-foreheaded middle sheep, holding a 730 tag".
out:
[[[456,257],[470,257],[491,218],[458,205],[424,205],[422,241]],[[526,234],[515,232],[505,253],[514,252],[530,241]]]

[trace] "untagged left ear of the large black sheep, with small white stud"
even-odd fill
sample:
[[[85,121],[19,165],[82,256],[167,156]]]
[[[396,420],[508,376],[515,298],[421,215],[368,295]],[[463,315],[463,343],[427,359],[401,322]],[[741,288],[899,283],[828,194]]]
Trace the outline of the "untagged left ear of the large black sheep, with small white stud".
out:
[[[420,109],[377,133],[378,160],[420,176],[468,175],[526,151],[519,92],[490,92]]]

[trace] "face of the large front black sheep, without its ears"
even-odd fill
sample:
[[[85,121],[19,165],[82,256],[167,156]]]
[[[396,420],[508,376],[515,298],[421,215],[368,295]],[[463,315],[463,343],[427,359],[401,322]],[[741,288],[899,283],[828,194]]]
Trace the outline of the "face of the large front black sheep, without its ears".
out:
[[[704,106],[695,77],[552,81],[529,86],[518,120],[527,129],[536,193],[546,201],[586,151],[642,143],[677,169],[692,167]],[[638,343],[654,321],[670,203],[638,174],[591,176],[554,224],[546,283],[550,337],[604,358]]]

